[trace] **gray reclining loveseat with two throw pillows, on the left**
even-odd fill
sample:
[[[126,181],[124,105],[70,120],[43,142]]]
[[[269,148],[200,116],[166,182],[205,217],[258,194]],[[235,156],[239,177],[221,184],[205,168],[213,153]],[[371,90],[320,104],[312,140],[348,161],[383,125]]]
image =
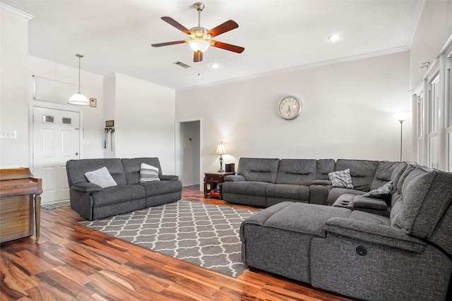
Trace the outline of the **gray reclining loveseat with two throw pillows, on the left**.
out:
[[[160,180],[140,183],[142,163],[157,167]],[[86,172],[102,167],[107,167],[117,185],[102,188],[85,177]],[[176,202],[182,197],[179,177],[162,175],[158,158],[69,160],[66,172],[71,209],[88,220]]]

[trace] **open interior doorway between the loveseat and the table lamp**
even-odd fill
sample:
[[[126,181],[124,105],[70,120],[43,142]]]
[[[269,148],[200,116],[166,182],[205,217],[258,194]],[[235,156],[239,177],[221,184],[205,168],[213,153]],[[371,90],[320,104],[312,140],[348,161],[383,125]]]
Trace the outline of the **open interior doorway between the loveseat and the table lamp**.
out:
[[[182,186],[201,183],[201,120],[177,121],[177,174]]]

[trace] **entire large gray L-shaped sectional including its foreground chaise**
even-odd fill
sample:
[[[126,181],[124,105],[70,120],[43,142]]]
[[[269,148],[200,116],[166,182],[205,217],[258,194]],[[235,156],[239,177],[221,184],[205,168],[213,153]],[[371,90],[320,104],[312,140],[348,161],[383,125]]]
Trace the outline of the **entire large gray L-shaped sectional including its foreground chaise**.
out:
[[[347,168],[353,188],[332,188],[330,176]],[[363,300],[451,300],[452,173],[405,162],[244,158],[229,180],[226,202],[267,207],[240,229],[252,271]]]

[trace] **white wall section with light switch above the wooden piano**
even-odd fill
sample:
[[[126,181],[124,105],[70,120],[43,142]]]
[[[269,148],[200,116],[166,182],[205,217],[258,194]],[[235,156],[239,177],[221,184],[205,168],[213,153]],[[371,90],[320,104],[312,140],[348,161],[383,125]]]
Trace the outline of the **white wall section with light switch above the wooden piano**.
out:
[[[16,140],[0,140],[0,168],[29,167],[28,20],[31,16],[0,4],[0,130],[16,130]]]

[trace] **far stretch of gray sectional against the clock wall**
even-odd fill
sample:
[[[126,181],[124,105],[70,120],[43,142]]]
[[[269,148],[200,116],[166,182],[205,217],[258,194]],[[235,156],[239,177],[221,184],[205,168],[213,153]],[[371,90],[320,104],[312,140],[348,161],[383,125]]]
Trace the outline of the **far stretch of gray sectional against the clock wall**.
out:
[[[225,176],[225,202],[270,207],[280,202],[304,202],[360,209],[388,216],[389,199],[362,196],[393,181],[395,190],[405,162],[350,159],[240,158],[237,175]],[[353,189],[334,188],[328,173],[350,169]],[[340,198],[347,194],[347,198]]]

